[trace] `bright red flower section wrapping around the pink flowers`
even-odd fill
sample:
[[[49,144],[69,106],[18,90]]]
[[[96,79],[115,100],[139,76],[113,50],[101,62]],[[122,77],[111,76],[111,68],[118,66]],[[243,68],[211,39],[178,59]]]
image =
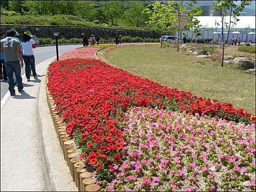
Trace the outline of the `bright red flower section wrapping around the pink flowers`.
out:
[[[68,59],[51,63],[48,89],[56,111],[67,123],[67,133],[80,137],[81,158],[100,170],[112,167],[123,148],[120,122],[131,106],[159,106],[218,116],[227,120],[255,122],[251,114],[236,110],[232,104],[211,102],[191,93],[170,89],[114,68],[100,60]],[[120,124],[119,124],[120,123]]]

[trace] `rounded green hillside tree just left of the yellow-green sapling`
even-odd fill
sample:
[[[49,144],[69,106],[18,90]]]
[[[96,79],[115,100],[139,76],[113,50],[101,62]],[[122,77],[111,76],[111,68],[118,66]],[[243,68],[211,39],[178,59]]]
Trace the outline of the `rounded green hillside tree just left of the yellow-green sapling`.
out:
[[[148,20],[148,14],[143,13],[144,6],[134,4],[123,14],[123,18],[130,25],[139,27]]]

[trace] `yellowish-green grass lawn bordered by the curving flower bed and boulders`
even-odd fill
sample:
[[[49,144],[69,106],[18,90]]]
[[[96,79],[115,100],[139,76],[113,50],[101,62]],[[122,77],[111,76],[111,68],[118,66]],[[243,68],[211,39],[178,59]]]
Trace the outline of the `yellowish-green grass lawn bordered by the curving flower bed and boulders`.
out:
[[[177,52],[177,48],[159,45],[109,49],[105,56],[115,67],[198,97],[231,103],[234,108],[255,115],[255,73],[232,70],[225,63],[221,68],[220,61],[197,58],[185,51]],[[226,53],[244,55],[234,49],[237,47],[228,48]]]

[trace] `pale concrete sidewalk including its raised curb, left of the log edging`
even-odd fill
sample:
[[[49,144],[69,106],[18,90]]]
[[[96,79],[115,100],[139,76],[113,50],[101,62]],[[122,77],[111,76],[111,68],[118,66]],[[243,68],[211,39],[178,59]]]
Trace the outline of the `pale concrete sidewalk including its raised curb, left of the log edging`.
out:
[[[1,109],[1,191],[77,191],[46,100],[52,60],[36,67],[36,78],[23,78],[24,91],[15,87]]]

